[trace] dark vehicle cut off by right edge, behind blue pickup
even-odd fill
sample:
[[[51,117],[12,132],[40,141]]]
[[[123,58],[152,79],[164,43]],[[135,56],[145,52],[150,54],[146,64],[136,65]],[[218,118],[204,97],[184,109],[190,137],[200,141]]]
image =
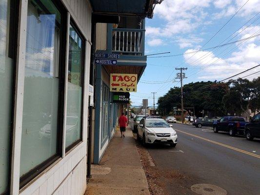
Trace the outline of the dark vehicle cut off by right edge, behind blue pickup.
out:
[[[245,124],[245,137],[247,140],[253,140],[254,137],[260,138],[260,114]]]

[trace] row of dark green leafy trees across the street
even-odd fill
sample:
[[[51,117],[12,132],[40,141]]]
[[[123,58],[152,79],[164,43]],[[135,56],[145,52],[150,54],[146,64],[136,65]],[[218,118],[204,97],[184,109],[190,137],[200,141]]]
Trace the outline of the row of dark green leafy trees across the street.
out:
[[[255,112],[260,108],[260,77],[253,81],[239,78],[226,83],[191,82],[183,86],[183,101],[184,108],[194,107],[196,116],[201,116],[202,110],[211,116],[222,116],[227,113],[240,115],[248,108]],[[174,107],[181,107],[180,102],[180,87],[171,88],[167,94],[158,99],[158,110],[160,114],[169,115]]]

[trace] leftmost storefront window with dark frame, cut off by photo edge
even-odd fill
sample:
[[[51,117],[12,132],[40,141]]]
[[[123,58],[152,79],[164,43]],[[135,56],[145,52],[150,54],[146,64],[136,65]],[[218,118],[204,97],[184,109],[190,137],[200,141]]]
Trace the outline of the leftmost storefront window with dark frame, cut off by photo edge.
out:
[[[13,0],[0,1],[0,195],[7,192],[10,169],[15,41]],[[11,16],[12,15],[12,16]]]

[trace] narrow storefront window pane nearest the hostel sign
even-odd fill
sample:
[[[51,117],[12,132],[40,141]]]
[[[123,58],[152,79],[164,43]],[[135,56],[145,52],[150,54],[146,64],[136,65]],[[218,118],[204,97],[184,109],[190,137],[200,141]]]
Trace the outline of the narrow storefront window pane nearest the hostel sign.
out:
[[[69,67],[67,93],[66,148],[81,140],[83,94],[83,41],[77,30],[70,25]]]

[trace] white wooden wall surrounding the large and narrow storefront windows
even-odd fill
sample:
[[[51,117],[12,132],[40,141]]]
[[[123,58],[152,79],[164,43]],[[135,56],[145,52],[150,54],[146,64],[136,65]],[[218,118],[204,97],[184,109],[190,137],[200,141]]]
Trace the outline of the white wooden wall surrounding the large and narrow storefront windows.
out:
[[[19,49],[25,48],[27,0],[20,1],[20,26],[18,42]],[[86,189],[86,165],[87,165],[87,114],[88,114],[88,81],[91,53],[91,14],[92,8],[88,0],[62,0],[69,15],[75,21],[86,41],[85,48],[85,77],[83,94],[83,125],[82,142],[71,149],[67,154],[63,149],[63,154],[54,164],[44,170],[39,176],[30,181],[19,190],[20,173],[20,129],[22,120],[23,82],[24,79],[24,56],[18,54],[18,69],[16,82],[19,84],[19,102],[16,103],[16,118],[14,128],[13,153],[12,153],[12,174],[11,174],[11,195],[83,195]],[[23,20],[23,21],[22,21]],[[23,33],[23,34],[22,34]],[[20,51],[20,50],[19,50]],[[19,78],[19,79],[18,79]],[[17,90],[17,89],[16,89]],[[18,91],[16,91],[18,93]],[[66,104],[66,103],[65,103]],[[20,113],[20,114],[19,114]],[[64,111],[66,118],[66,112]],[[63,127],[65,129],[65,127]],[[65,137],[63,137],[64,139]]]

